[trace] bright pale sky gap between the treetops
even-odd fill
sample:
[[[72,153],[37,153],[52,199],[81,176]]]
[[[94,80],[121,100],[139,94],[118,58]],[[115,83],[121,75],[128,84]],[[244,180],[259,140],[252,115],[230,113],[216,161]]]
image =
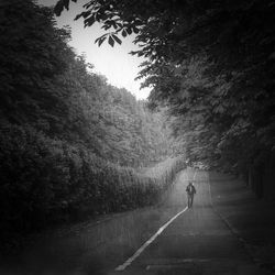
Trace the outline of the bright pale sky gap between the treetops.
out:
[[[138,99],[145,99],[150,89],[140,90],[142,80],[134,80],[140,70],[139,65],[144,62],[141,57],[132,56],[129,53],[138,50],[133,44],[132,37],[122,40],[122,44],[116,44],[111,47],[103,43],[100,47],[95,44],[95,40],[103,34],[99,24],[84,29],[82,19],[74,21],[75,16],[82,11],[82,4],[88,0],[78,0],[77,3],[70,1],[69,11],[64,10],[62,15],[56,18],[57,25],[69,25],[72,28],[70,46],[77,54],[85,54],[87,62],[94,64],[95,73],[105,75],[108,82],[118,87],[125,88]],[[43,6],[54,6],[57,0],[37,0]]]

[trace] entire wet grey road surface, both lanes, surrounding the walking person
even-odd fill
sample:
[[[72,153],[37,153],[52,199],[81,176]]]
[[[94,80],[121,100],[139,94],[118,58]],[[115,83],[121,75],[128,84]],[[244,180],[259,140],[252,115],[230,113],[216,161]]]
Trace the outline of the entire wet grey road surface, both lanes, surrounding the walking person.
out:
[[[197,189],[191,209],[186,208],[189,180]],[[157,208],[118,215],[75,231],[25,252],[18,274],[264,274],[213,210],[208,172],[179,173]]]

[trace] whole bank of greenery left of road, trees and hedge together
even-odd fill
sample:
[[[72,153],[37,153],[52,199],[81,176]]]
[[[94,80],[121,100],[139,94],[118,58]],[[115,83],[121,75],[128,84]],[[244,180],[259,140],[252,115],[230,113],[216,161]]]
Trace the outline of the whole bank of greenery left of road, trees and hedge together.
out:
[[[1,239],[156,202],[180,162],[134,168],[169,155],[164,116],[92,73],[50,9],[3,1],[0,26]]]

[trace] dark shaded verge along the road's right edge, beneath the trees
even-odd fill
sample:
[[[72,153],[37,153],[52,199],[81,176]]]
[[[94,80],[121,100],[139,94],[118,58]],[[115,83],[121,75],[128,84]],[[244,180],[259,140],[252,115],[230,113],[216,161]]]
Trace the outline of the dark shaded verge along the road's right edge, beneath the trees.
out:
[[[210,174],[217,211],[243,242],[253,262],[275,273],[275,201],[260,200],[240,179]]]

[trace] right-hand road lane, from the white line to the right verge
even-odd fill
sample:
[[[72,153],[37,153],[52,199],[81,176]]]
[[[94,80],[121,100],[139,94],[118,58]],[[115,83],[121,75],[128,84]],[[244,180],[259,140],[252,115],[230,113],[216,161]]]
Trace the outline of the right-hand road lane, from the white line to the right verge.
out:
[[[130,265],[121,265],[123,271],[112,274],[265,274],[213,211],[207,172],[183,172],[168,204],[185,208],[189,179],[197,188],[194,208],[177,217]]]

